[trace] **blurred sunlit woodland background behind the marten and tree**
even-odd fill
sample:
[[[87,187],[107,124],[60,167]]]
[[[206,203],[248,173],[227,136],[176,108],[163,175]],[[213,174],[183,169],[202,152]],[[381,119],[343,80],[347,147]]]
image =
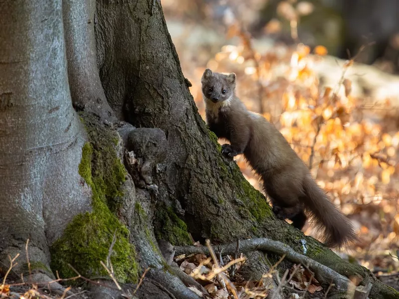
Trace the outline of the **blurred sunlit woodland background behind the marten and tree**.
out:
[[[342,256],[398,289],[399,0],[161,2],[201,116],[205,68],[235,72],[359,230]]]

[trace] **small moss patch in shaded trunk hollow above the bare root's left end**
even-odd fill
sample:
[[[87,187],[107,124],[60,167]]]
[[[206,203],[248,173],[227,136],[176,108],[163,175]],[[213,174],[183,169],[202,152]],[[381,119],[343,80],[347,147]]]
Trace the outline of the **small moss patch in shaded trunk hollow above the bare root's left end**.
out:
[[[186,223],[176,215],[171,207],[157,209],[157,237],[169,241],[173,245],[189,245],[192,240],[187,231]]]

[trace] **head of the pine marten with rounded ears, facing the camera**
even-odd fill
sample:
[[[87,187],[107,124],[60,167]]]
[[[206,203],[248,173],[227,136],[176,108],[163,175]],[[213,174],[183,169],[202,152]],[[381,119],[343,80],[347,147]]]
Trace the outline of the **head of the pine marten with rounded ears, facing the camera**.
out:
[[[203,97],[212,103],[222,103],[226,100],[231,100],[234,96],[234,73],[224,75],[213,73],[210,69],[206,69],[203,72],[201,83]]]

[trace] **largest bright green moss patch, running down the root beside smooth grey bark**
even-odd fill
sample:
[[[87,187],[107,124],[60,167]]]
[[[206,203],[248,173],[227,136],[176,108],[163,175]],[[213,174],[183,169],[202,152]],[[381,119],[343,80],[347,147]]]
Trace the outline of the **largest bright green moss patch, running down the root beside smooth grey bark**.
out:
[[[76,276],[72,265],[83,276],[108,275],[100,261],[106,262],[113,235],[116,243],[111,255],[115,276],[120,282],[136,282],[138,264],[128,229],[112,212],[123,194],[126,170],[119,160],[112,130],[101,127],[92,117],[84,117],[90,143],[82,149],[79,174],[92,190],[92,211],[79,214],[66,227],[63,236],[51,246],[51,268],[61,277]]]

